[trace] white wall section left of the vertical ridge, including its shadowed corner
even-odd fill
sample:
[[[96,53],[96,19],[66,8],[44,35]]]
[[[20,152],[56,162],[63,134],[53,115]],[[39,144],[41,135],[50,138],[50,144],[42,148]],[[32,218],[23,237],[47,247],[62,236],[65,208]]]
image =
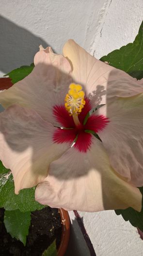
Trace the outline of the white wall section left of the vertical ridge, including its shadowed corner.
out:
[[[38,46],[57,52],[67,39],[90,50],[105,0],[0,0],[0,71],[33,61]]]

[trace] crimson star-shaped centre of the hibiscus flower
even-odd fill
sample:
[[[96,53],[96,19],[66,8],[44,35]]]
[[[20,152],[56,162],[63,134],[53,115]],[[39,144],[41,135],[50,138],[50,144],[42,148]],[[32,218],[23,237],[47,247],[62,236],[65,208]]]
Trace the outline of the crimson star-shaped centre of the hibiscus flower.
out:
[[[90,100],[85,99],[85,106],[82,112],[79,114],[78,118],[80,125],[77,127],[74,123],[72,116],[66,111],[64,104],[55,105],[53,107],[53,115],[56,120],[61,124],[62,128],[56,129],[53,134],[53,141],[57,143],[70,142],[71,145],[75,138],[77,138],[74,147],[76,147],[80,152],[87,152],[92,144],[91,133],[87,133],[86,130],[92,130],[95,133],[104,129],[104,127],[109,122],[108,118],[101,115],[91,115],[85,125],[83,125],[84,119],[88,112],[91,110]],[[78,136],[78,137],[77,137]]]

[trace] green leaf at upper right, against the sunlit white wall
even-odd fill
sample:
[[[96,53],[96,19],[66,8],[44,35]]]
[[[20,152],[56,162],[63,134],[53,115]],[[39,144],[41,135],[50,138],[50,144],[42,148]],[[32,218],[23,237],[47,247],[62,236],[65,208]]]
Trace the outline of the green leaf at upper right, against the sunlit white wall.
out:
[[[143,78],[143,22],[133,43],[128,43],[119,50],[114,50],[100,60],[121,69],[137,79]]]

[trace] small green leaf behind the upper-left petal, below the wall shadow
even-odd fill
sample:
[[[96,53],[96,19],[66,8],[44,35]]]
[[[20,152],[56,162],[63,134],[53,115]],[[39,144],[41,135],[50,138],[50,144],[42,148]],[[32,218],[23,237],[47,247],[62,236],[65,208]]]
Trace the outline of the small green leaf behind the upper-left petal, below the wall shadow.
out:
[[[20,68],[14,69],[9,72],[5,76],[9,76],[12,79],[12,83],[16,83],[25,77],[27,77],[33,70],[34,64],[32,63],[30,66],[21,66]]]

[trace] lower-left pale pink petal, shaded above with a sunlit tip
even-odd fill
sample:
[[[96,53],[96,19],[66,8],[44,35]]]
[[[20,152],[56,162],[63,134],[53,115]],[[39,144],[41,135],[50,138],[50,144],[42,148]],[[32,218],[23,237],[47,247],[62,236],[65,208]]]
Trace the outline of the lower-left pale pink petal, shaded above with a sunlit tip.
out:
[[[43,181],[50,162],[69,148],[68,143],[53,143],[55,129],[34,111],[17,105],[0,114],[0,159],[13,173],[16,194]]]

